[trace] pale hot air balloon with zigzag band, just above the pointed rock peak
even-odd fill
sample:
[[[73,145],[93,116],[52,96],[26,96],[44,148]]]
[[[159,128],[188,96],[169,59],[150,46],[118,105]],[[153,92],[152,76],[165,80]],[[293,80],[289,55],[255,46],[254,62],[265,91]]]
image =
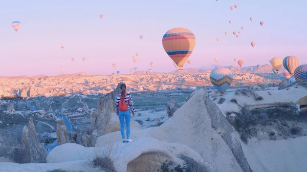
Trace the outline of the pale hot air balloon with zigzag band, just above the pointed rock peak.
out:
[[[224,94],[233,80],[232,72],[227,68],[217,68],[211,71],[210,81],[218,92]]]

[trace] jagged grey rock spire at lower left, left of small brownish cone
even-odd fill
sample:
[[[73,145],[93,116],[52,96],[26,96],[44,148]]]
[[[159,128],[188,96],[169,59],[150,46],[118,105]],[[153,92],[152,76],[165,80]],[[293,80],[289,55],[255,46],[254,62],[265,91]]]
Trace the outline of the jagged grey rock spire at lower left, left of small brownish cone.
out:
[[[29,158],[29,163],[46,162],[46,157],[48,153],[45,147],[43,147],[43,145],[40,143],[32,118],[30,118],[29,120],[28,127],[24,126],[21,140],[23,142],[23,145],[25,146],[25,158]]]

